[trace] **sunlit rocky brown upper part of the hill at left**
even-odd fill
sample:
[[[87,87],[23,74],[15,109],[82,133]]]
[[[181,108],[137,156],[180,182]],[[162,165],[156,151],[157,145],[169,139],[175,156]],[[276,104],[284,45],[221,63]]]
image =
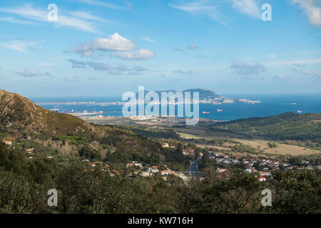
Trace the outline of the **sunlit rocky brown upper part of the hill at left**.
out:
[[[68,133],[90,135],[101,129],[74,117],[54,113],[17,93],[0,90],[0,134],[19,137],[23,133],[39,136],[57,136]]]

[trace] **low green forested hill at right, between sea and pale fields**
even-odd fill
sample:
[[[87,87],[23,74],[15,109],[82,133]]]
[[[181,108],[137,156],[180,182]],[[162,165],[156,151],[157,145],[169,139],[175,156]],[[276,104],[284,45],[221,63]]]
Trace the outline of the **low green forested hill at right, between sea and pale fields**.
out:
[[[283,113],[266,118],[247,118],[215,123],[211,130],[262,136],[274,140],[321,139],[321,114]]]

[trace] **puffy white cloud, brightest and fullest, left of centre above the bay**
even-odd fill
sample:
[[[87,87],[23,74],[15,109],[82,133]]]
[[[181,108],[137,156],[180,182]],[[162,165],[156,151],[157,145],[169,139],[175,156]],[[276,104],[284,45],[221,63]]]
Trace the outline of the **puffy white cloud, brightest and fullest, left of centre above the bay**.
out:
[[[108,38],[95,38],[89,43],[83,43],[80,46],[71,48],[71,51],[81,54],[81,56],[90,57],[96,51],[131,51],[136,48],[136,44],[115,33]]]

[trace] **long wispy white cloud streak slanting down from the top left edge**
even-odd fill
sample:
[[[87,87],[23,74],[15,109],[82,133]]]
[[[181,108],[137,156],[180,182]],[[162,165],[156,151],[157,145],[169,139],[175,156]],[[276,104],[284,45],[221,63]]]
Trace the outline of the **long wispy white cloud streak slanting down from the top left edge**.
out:
[[[29,4],[18,8],[0,8],[0,12],[6,14],[17,14],[26,19],[35,21],[49,22],[47,18],[48,11],[34,9]],[[63,16],[61,14],[61,11],[58,11],[58,21],[50,21],[49,23],[68,28],[75,28],[90,33],[100,33],[93,27],[93,24],[91,24],[90,22],[83,19],[78,19],[76,17]]]

